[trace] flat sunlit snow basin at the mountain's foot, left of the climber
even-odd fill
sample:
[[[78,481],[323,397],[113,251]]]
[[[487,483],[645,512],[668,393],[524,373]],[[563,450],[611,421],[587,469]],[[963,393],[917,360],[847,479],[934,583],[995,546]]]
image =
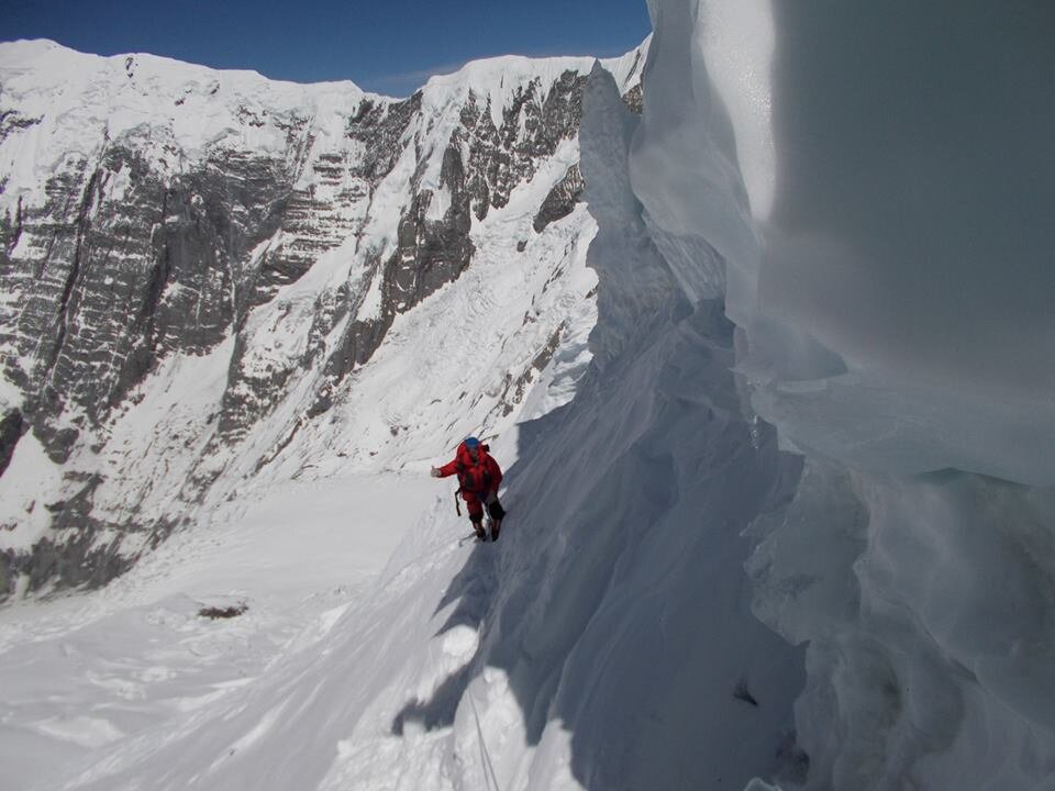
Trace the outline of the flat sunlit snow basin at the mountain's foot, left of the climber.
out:
[[[419,515],[451,508],[448,489],[391,474],[286,483],[232,503],[208,537],[174,536],[103,590],[0,610],[3,788],[77,787],[89,767],[159,748],[207,711],[244,708],[269,673],[325,651]],[[471,552],[445,524],[437,547]],[[204,770],[267,727],[265,716],[185,758]]]

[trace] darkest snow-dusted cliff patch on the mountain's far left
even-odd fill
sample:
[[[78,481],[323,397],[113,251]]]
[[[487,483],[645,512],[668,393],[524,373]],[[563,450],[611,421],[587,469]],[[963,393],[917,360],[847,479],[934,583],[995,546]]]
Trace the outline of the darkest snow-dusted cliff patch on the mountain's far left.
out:
[[[54,176],[48,203],[26,210],[19,227],[40,255],[5,261],[8,288],[23,297],[7,365],[58,457],[51,417],[77,406],[98,425],[158,357],[222,339],[245,282],[233,263],[277,225],[289,182],[276,163],[249,157],[209,160],[166,182],[130,145],[109,148],[99,167],[79,161]],[[118,177],[127,181],[120,200],[110,189]],[[0,244],[12,249],[4,231]],[[18,358],[36,365],[21,370]]]

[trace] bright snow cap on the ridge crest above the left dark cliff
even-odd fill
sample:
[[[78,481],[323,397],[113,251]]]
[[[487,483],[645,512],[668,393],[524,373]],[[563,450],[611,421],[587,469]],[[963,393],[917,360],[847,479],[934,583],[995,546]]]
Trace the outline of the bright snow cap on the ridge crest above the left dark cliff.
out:
[[[12,215],[20,199],[44,202],[38,191],[62,159],[98,160],[111,140],[153,127],[156,161],[177,174],[182,159],[218,148],[282,155],[282,124],[298,115],[325,119],[323,134],[340,136],[342,118],[353,115],[364,99],[379,99],[347,81],[279,82],[255,71],[220,71],[156,55],[87,55],[49,41],[5,43],[0,70],[2,90],[18,101],[20,113],[40,120],[30,134],[14,137],[18,145],[0,146],[0,172],[9,175],[0,213]],[[247,116],[255,123],[240,122]]]

